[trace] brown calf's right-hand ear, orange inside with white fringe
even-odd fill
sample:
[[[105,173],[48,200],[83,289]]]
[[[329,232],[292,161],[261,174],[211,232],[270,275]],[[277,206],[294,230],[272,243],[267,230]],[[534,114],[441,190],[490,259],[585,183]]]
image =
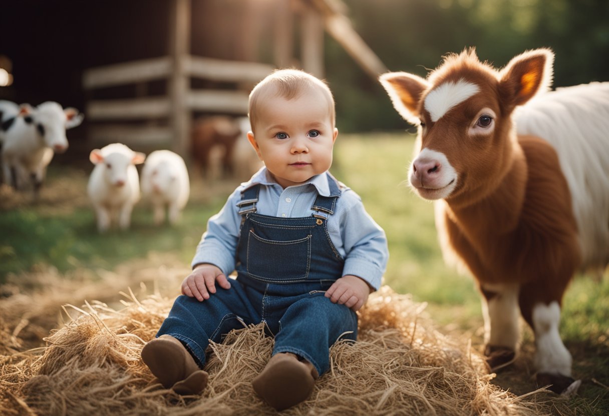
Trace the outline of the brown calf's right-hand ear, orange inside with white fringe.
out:
[[[499,73],[499,91],[512,108],[523,105],[552,85],[554,52],[533,49],[514,58]]]

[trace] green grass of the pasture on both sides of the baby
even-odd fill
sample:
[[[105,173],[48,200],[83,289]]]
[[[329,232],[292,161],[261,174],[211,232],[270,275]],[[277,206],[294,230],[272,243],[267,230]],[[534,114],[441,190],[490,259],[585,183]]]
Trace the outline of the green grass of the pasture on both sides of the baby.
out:
[[[406,184],[413,145],[414,137],[406,133],[339,135],[332,172],[359,193],[368,213],[387,233],[390,260],[385,284],[428,303],[428,314],[443,331],[470,337],[474,345],[480,345],[482,314],[473,279],[445,266],[433,205],[415,196]],[[139,203],[130,231],[100,235],[93,211],[82,197],[88,172],[88,167],[52,165],[49,195],[43,194],[39,204],[24,198],[10,206],[1,199],[6,194],[0,193],[0,283],[9,273],[18,274],[41,263],[59,271],[113,269],[132,258],[146,258],[150,251],[172,252],[188,265],[206,221],[236,185],[196,181],[176,227],[153,226],[152,213]],[[56,192],[60,195],[51,195],[58,182],[64,188]],[[580,396],[570,402],[580,414],[609,411],[608,324],[608,277],[595,282],[578,276],[565,296],[561,333],[574,356],[575,375],[584,380]],[[529,330],[524,330],[523,339],[525,349],[532,350]],[[518,371],[500,375],[497,383],[513,392],[532,388],[528,376]]]

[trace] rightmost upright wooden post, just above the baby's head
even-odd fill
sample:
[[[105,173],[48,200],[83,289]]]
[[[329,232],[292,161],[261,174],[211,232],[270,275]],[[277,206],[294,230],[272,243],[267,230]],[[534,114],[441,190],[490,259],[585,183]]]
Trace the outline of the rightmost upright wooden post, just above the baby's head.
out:
[[[323,19],[311,7],[303,7],[300,30],[303,69],[317,78],[324,77],[323,70]]]

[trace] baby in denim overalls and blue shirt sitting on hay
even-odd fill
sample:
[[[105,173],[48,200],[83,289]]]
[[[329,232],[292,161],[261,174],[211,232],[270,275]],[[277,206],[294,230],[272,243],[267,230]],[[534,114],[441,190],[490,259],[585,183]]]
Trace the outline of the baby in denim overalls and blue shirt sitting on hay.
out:
[[[200,393],[209,340],[264,322],[275,346],[252,385],[281,411],[309,397],[331,345],[356,340],[356,311],[381,285],[389,253],[359,196],[328,172],[338,130],[323,81],[275,71],[250,94],[249,117],[265,166],[209,218],[183,296],[142,358],[164,387]]]

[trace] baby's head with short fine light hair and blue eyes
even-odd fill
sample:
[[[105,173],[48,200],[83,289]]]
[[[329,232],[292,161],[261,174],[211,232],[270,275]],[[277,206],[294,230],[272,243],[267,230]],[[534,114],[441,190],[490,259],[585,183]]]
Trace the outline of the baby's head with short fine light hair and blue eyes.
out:
[[[264,78],[250,94],[247,138],[282,187],[326,172],[338,130],[328,86],[297,69]]]

